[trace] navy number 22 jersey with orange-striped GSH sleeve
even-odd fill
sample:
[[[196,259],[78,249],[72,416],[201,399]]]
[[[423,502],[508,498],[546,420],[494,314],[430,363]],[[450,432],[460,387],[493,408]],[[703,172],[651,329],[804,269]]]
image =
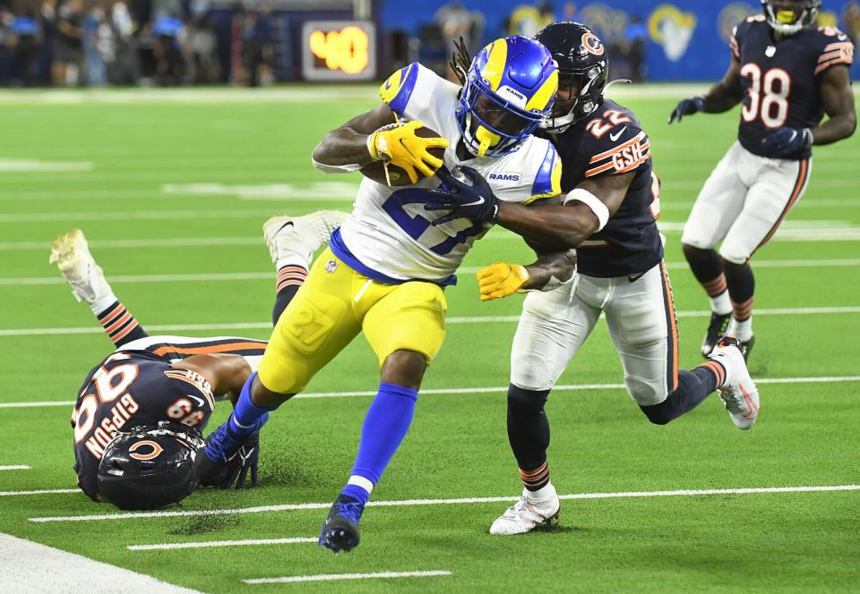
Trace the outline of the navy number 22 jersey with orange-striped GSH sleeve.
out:
[[[656,223],[659,182],[651,167],[648,134],[636,115],[606,99],[588,118],[548,138],[562,157],[564,193],[586,179],[635,173],[618,212],[577,248],[577,270],[607,278],[656,266],[663,259]]]

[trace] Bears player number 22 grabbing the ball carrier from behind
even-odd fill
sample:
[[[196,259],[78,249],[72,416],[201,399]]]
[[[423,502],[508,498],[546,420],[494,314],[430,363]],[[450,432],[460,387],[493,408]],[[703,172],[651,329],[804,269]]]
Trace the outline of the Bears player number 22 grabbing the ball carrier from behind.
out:
[[[750,429],[759,405],[733,339],[721,341],[709,362],[678,369],[675,305],[656,223],[659,181],[649,137],[636,115],[604,98],[606,48],[576,22],[549,25],[536,39],[558,64],[559,89],[544,133],[562,157],[563,205],[502,203],[486,182],[465,170],[470,185],[446,180],[449,191],[439,191],[439,204],[426,207],[452,208],[437,220],[492,220],[536,249],[577,253],[572,282],[529,292],[523,302],[511,352],[508,438],[524,488],[520,501],[490,528],[500,535],[528,532],[557,517],[544,405],[601,313],[624,366],[627,391],[652,423],[665,425],[719,390],[735,425]],[[481,300],[487,301],[518,291],[528,274],[518,265],[496,262],[477,277]]]

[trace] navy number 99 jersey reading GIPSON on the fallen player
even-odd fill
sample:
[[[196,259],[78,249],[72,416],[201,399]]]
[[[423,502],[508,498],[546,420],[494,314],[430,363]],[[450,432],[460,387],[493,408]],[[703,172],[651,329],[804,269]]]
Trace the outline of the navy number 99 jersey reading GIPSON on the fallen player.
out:
[[[78,485],[97,500],[99,462],[116,431],[176,420],[201,431],[215,403],[209,382],[148,351],[117,351],[90,371],[72,414]]]

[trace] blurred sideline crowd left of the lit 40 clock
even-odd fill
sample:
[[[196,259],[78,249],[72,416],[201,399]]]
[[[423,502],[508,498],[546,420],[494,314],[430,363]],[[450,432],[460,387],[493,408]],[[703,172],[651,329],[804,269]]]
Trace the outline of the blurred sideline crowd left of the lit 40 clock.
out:
[[[224,35],[209,0],[0,0],[0,85],[271,81],[271,5],[228,17]]]

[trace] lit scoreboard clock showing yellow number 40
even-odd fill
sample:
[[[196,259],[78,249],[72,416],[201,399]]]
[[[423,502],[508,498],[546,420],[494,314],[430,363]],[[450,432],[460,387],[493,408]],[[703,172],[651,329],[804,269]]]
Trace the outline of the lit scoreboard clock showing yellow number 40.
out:
[[[376,78],[376,27],[371,21],[307,21],[302,26],[306,81]]]

